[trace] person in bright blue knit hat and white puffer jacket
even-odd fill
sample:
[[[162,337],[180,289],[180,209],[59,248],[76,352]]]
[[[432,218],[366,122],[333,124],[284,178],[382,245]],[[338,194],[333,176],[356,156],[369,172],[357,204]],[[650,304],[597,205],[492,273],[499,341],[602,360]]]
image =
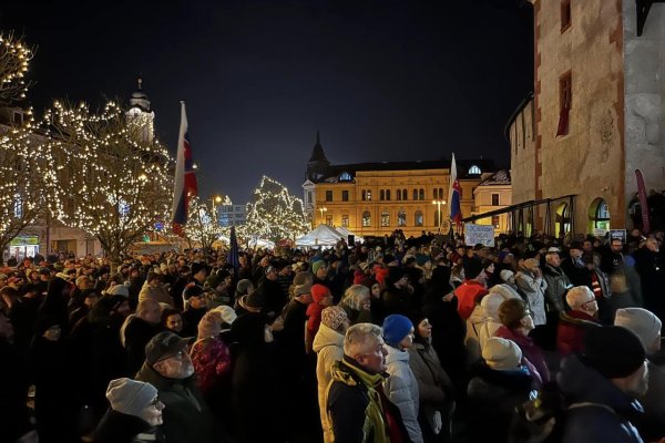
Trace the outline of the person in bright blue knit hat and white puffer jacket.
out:
[[[383,392],[400,412],[408,436],[413,443],[422,443],[422,431],[418,422],[420,395],[418,381],[409,367],[408,349],[413,344],[413,324],[405,316],[393,313],[383,320],[383,340],[386,341],[386,372],[390,374],[383,381]]]

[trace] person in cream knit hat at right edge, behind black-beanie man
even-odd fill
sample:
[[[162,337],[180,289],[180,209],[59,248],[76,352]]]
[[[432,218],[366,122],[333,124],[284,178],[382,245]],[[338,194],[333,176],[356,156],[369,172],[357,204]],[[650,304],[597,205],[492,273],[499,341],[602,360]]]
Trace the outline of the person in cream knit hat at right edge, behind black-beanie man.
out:
[[[648,356],[648,391],[640,399],[644,416],[636,425],[646,441],[657,441],[665,435],[665,364],[661,350],[663,323],[646,309],[624,308],[616,310],[614,324],[633,331]]]

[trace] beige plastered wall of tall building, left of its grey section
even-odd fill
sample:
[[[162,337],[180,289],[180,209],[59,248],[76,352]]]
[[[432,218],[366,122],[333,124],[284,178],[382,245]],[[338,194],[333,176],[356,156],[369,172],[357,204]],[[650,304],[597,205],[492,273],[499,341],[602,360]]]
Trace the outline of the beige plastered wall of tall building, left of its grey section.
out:
[[[592,231],[590,212],[603,199],[612,225],[624,226],[623,27],[621,1],[571,2],[562,28],[560,1],[535,0],[535,199],[576,195],[577,233]],[[569,130],[556,135],[561,81],[570,74]],[[513,172],[513,184],[519,174]],[[516,188],[516,185],[515,185]],[[536,213],[543,228],[544,212]]]

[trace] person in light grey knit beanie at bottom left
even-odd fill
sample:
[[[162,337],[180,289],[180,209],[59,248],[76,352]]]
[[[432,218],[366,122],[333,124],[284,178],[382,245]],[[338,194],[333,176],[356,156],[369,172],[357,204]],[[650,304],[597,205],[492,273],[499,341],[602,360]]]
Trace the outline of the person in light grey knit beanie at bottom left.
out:
[[[94,431],[95,443],[164,442],[158,431],[164,403],[150,383],[111,380],[106,389],[111,408]]]

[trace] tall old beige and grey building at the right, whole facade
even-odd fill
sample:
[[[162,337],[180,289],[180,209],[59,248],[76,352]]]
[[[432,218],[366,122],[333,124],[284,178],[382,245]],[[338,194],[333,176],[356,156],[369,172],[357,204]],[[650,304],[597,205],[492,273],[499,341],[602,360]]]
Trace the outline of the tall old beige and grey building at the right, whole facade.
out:
[[[514,225],[631,228],[635,169],[665,187],[665,4],[644,16],[633,0],[531,2],[534,93],[507,127]]]

